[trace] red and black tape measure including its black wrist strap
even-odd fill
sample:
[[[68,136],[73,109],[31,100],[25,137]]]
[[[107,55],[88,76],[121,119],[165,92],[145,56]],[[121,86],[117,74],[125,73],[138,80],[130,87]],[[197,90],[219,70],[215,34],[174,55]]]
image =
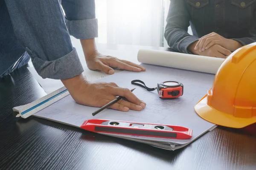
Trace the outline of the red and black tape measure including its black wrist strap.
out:
[[[137,82],[140,82],[143,85]],[[157,83],[156,88],[148,88],[143,81],[138,79],[131,81],[131,84],[139,85],[140,87],[145,88],[147,91],[154,91],[157,89],[160,98],[177,98],[183,95],[183,84],[177,81],[165,81]]]

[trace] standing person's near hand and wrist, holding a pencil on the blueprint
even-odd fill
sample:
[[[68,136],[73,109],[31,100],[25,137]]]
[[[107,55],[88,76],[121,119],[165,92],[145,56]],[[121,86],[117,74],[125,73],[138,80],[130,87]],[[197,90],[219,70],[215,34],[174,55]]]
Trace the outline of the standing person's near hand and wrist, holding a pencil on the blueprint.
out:
[[[73,99],[81,104],[92,107],[102,107],[116,96],[123,96],[128,101],[119,100],[109,108],[119,111],[141,111],[146,103],[138,99],[129,89],[120,88],[115,83],[106,82],[88,82],[82,75],[71,79],[62,79],[62,83],[70,92]]]

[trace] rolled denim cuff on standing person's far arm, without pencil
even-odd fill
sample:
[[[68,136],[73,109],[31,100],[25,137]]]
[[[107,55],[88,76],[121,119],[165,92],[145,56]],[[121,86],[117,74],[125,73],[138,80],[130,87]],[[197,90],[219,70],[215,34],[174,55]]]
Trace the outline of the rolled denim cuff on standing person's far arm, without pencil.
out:
[[[76,39],[93,39],[98,37],[98,20],[65,20],[69,34]]]

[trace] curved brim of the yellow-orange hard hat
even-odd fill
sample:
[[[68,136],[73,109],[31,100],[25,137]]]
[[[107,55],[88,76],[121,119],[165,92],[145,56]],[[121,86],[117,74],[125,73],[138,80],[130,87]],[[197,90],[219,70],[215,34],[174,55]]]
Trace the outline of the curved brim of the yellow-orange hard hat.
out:
[[[207,105],[207,95],[195,105],[195,112],[204,120],[225,127],[242,128],[256,122],[256,117],[238,118],[210,107]]]

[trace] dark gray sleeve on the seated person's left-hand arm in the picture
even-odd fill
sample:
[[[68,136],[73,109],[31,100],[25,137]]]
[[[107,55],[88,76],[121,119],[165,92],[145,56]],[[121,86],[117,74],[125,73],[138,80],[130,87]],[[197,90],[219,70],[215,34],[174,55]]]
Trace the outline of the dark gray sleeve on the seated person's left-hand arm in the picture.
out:
[[[192,54],[188,47],[198,40],[198,37],[188,33],[190,15],[184,0],[170,0],[166,19],[164,37],[172,49],[181,53]]]

